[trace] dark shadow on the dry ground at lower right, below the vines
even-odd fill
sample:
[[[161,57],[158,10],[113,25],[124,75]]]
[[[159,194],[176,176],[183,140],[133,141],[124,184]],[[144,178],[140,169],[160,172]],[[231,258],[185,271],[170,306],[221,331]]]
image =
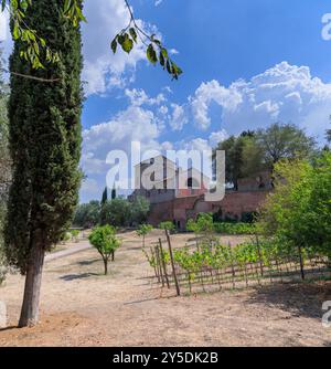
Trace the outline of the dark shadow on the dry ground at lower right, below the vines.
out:
[[[277,283],[254,288],[247,302],[277,307],[293,317],[321,319],[322,304],[331,299],[331,282]]]

